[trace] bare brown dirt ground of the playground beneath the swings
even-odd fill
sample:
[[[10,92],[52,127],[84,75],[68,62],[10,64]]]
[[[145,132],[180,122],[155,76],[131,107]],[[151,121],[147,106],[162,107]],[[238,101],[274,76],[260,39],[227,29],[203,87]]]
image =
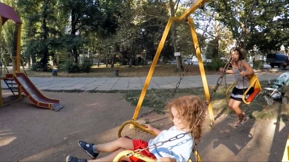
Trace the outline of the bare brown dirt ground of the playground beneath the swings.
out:
[[[24,99],[0,108],[0,161],[60,162],[68,155],[89,159],[77,141],[103,143],[117,139],[119,126],[132,118],[135,108],[124,101],[122,94],[44,94],[61,99],[65,106],[56,112],[38,108]],[[147,110],[142,108],[140,114]],[[281,121],[277,123],[249,121],[238,129],[233,128],[234,117],[223,115],[213,126],[207,122],[198,144],[202,160],[281,161],[289,132],[289,125],[282,118],[286,117],[280,115]],[[143,121],[163,129],[171,126],[166,115],[151,114]],[[153,138],[129,130],[128,126],[122,135]]]

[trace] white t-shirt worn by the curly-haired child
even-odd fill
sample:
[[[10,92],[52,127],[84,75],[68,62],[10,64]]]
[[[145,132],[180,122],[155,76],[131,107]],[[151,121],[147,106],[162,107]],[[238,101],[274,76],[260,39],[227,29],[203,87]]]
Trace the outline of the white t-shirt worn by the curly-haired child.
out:
[[[169,140],[179,134],[186,133],[185,131],[176,130],[175,126],[169,130],[163,130],[155,139],[149,140],[148,145],[153,145],[157,142]],[[159,145],[161,143],[158,143]],[[193,151],[193,138],[190,134],[185,135],[178,140],[166,142],[161,146],[149,149],[157,159],[162,157],[173,158],[177,162],[188,162]]]

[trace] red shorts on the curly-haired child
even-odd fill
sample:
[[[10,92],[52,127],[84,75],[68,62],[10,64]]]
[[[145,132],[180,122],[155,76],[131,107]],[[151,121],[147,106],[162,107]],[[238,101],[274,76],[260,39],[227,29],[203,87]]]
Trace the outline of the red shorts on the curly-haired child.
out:
[[[136,149],[143,149],[143,148],[148,146],[148,143],[143,141],[143,140],[132,140],[132,143],[133,143],[133,148],[134,148],[134,149],[132,149],[133,151],[136,150]],[[152,159],[156,159],[156,157],[152,153],[150,153],[148,151],[148,149],[142,151],[141,154],[145,155],[147,157],[150,157]],[[138,158],[136,158],[134,156],[129,157],[129,160],[131,162],[144,162],[143,160],[140,160],[140,159],[138,159]]]

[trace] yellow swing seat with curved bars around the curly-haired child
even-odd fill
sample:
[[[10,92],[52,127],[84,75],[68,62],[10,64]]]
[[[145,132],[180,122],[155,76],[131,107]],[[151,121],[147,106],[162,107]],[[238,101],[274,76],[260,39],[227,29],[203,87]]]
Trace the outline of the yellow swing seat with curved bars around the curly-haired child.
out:
[[[140,129],[142,129],[142,130],[144,130],[144,131],[146,131],[146,132],[148,132],[148,133],[150,133],[150,134],[152,134],[152,135],[154,135],[154,136],[157,136],[154,132],[147,131],[147,130],[146,130],[146,127],[143,126],[142,124],[140,124],[140,123],[138,123],[138,122],[136,122],[136,121],[130,120],[130,121],[125,121],[125,122],[123,122],[123,123],[120,125],[120,129],[119,129],[119,132],[118,132],[118,137],[119,137],[119,138],[122,137],[122,136],[121,136],[121,131],[122,131],[122,129],[124,128],[124,126],[125,126],[126,124],[133,124],[133,125],[135,125],[136,127],[140,128]],[[124,137],[125,137],[125,138],[129,138],[129,137],[127,137],[127,136],[124,136]],[[129,138],[129,139],[130,139],[130,138]],[[194,146],[196,146],[196,143],[194,143]],[[130,154],[130,153],[133,153],[133,151],[132,151],[132,150],[124,150],[124,151],[121,151],[121,152],[115,157],[115,159],[113,160],[113,162],[120,162],[120,159],[121,159],[122,157],[125,157],[127,154]],[[198,159],[197,162],[202,162],[201,156],[200,156],[200,154],[198,153],[198,150],[196,149],[196,147],[193,147],[193,153],[194,153],[195,156],[197,156],[197,157],[196,157],[196,159]],[[132,156],[134,156],[134,157],[136,157],[136,158],[138,158],[138,159],[141,159],[141,160],[143,160],[143,161],[145,161],[145,162],[156,162],[155,159],[149,158],[149,157],[147,157],[147,156],[145,156],[145,155],[142,155],[142,154],[134,154],[134,155],[132,155]],[[192,159],[189,159],[188,162],[193,162],[193,161],[192,161]]]

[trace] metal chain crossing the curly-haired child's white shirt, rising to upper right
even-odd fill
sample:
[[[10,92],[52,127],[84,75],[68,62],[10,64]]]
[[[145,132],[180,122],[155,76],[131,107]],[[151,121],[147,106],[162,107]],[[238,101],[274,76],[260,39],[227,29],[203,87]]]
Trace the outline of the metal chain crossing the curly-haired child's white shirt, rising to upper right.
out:
[[[251,9],[250,9],[250,13],[249,13],[249,15],[248,15],[248,17],[247,17],[247,19],[246,19],[245,25],[248,23],[247,21],[248,21],[249,18],[251,17],[251,14],[252,14],[252,12],[253,12],[253,10],[254,10],[254,8],[255,8],[256,3],[257,3],[257,0],[254,0],[254,3],[252,4]],[[246,27],[245,25],[244,25],[244,27]],[[241,32],[241,35],[242,35],[242,33],[243,33],[243,32]],[[241,37],[239,37],[238,39],[241,40]],[[238,40],[238,41],[239,41],[239,40]],[[240,42],[238,42],[238,41],[237,41],[237,45],[240,43]],[[237,45],[236,45],[236,46],[237,46]],[[235,47],[235,49],[236,49],[236,47]],[[230,61],[231,61],[231,60],[232,60],[232,56],[230,57]],[[229,62],[230,62],[230,61],[229,61]],[[219,77],[219,79],[218,79],[218,81],[217,81],[217,85],[216,85],[214,91],[211,93],[211,97],[210,97],[209,101],[208,101],[207,104],[205,105],[204,109],[201,111],[200,115],[197,117],[196,122],[195,122],[195,124],[193,125],[193,131],[188,131],[188,132],[179,134],[179,135],[177,135],[177,136],[175,136],[175,137],[172,137],[172,138],[170,138],[169,140],[166,140],[166,141],[154,143],[154,144],[152,144],[152,145],[149,145],[149,146],[145,147],[144,149],[134,150],[133,152],[126,154],[125,157],[133,156],[133,155],[138,154],[138,153],[141,153],[142,151],[147,150],[147,149],[152,149],[152,148],[155,148],[155,147],[159,147],[159,146],[163,145],[163,144],[166,143],[166,142],[171,142],[171,141],[174,141],[174,140],[178,140],[178,139],[181,139],[181,138],[185,137],[185,135],[187,135],[187,134],[193,133],[194,130],[196,129],[196,126],[199,124],[201,117],[202,117],[202,116],[204,115],[204,113],[207,111],[210,102],[211,102],[211,101],[213,100],[213,98],[215,97],[217,88],[218,88],[218,86],[221,84],[221,82],[222,82],[222,80],[223,80],[223,77],[224,77],[224,75],[225,75],[225,73],[226,73],[226,70],[228,70],[229,62],[226,63],[226,65],[225,65],[226,68],[224,68],[225,70],[223,70],[223,72],[222,72],[222,74],[221,74],[221,77]]]

